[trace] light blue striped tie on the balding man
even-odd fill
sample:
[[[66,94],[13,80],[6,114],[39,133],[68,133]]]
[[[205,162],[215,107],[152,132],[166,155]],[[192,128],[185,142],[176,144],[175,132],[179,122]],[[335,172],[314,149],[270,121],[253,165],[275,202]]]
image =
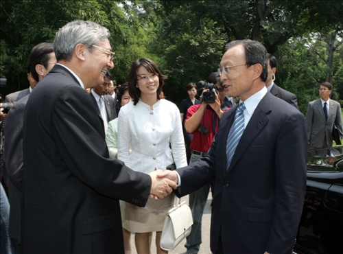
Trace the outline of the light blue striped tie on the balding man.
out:
[[[246,109],[244,102],[237,106],[235,120],[228,132],[228,140],[226,142],[226,171],[233,159],[233,154],[235,153],[239,139],[241,139],[241,135],[244,132],[244,109]]]

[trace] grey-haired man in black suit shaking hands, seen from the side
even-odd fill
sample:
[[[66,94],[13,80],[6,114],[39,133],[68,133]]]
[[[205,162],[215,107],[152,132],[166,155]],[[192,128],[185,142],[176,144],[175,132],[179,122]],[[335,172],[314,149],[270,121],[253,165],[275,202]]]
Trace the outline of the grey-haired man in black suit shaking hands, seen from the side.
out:
[[[171,192],[167,179],[110,159],[102,119],[86,88],[113,68],[105,27],[73,21],[56,33],[58,64],[25,108],[25,253],[124,253],[119,199],[144,206]],[[152,169],[153,170],[153,169]]]

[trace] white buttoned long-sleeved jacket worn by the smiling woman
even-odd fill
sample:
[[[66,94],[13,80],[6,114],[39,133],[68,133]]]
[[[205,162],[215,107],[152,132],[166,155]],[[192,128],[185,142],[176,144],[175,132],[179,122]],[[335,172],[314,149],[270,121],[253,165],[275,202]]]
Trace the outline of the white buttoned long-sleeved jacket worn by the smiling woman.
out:
[[[139,100],[121,107],[118,117],[118,159],[132,170],[149,174],[187,165],[185,141],[178,107],[167,100],[150,106]],[[171,148],[169,147],[169,143]],[[129,148],[132,148],[129,154]],[[174,157],[174,160],[173,160]]]

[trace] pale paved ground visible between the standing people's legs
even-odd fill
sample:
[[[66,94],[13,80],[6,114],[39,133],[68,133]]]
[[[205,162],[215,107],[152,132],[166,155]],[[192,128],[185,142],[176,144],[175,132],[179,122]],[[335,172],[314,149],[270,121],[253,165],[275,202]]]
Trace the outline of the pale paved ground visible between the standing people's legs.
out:
[[[181,201],[186,201],[188,204],[188,196],[182,198]],[[211,202],[212,202],[212,194],[209,193],[209,198],[207,199],[207,203],[204,209],[204,215],[202,216],[202,244],[200,245],[199,254],[210,254],[210,225],[211,225]],[[155,235],[152,236],[152,254],[156,253],[156,246],[155,242]],[[174,251],[169,251],[169,254],[181,254],[186,253],[187,249],[185,248],[186,240],[183,240],[176,246]],[[132,246],[132,254],[137,254],[136,247],[134,246],[134,235],[131,235],[131,246]]]

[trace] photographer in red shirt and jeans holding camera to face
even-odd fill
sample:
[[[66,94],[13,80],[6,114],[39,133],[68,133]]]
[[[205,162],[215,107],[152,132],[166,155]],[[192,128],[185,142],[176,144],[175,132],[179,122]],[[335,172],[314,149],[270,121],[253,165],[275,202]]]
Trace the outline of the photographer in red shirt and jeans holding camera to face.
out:
[[[190,106],[185,121],[187,132],[193,134],[191,141],[191,159],[190,163],[198,161],[202,156],[207,154],[211,147],[213,137],[218,130],[220,117],[223,110],[221,109],[222,102],[225,98],[224,86],[220,81],[219,73],[212,73],[206,80],[207,84],[199,89],[202,90],[200,97],[201,104]],[[198,86],[201,82],[198,82]],[[209,93],[212,92],[212,93]],[[213,102],[213,100],[214,102]],[[206,103],[212,102],[212,103]],[[229,108],[227,107],[226,110]],[[225,109],[224,109],[225,111]],[[198,189],[196,192],[189,194],[189,207],[191,207],[193,215],[193,226],[191,234],[187,237],[187,253],[198,253],[201,240],[201,222],[202,213],[209,196],[210,185]]]

